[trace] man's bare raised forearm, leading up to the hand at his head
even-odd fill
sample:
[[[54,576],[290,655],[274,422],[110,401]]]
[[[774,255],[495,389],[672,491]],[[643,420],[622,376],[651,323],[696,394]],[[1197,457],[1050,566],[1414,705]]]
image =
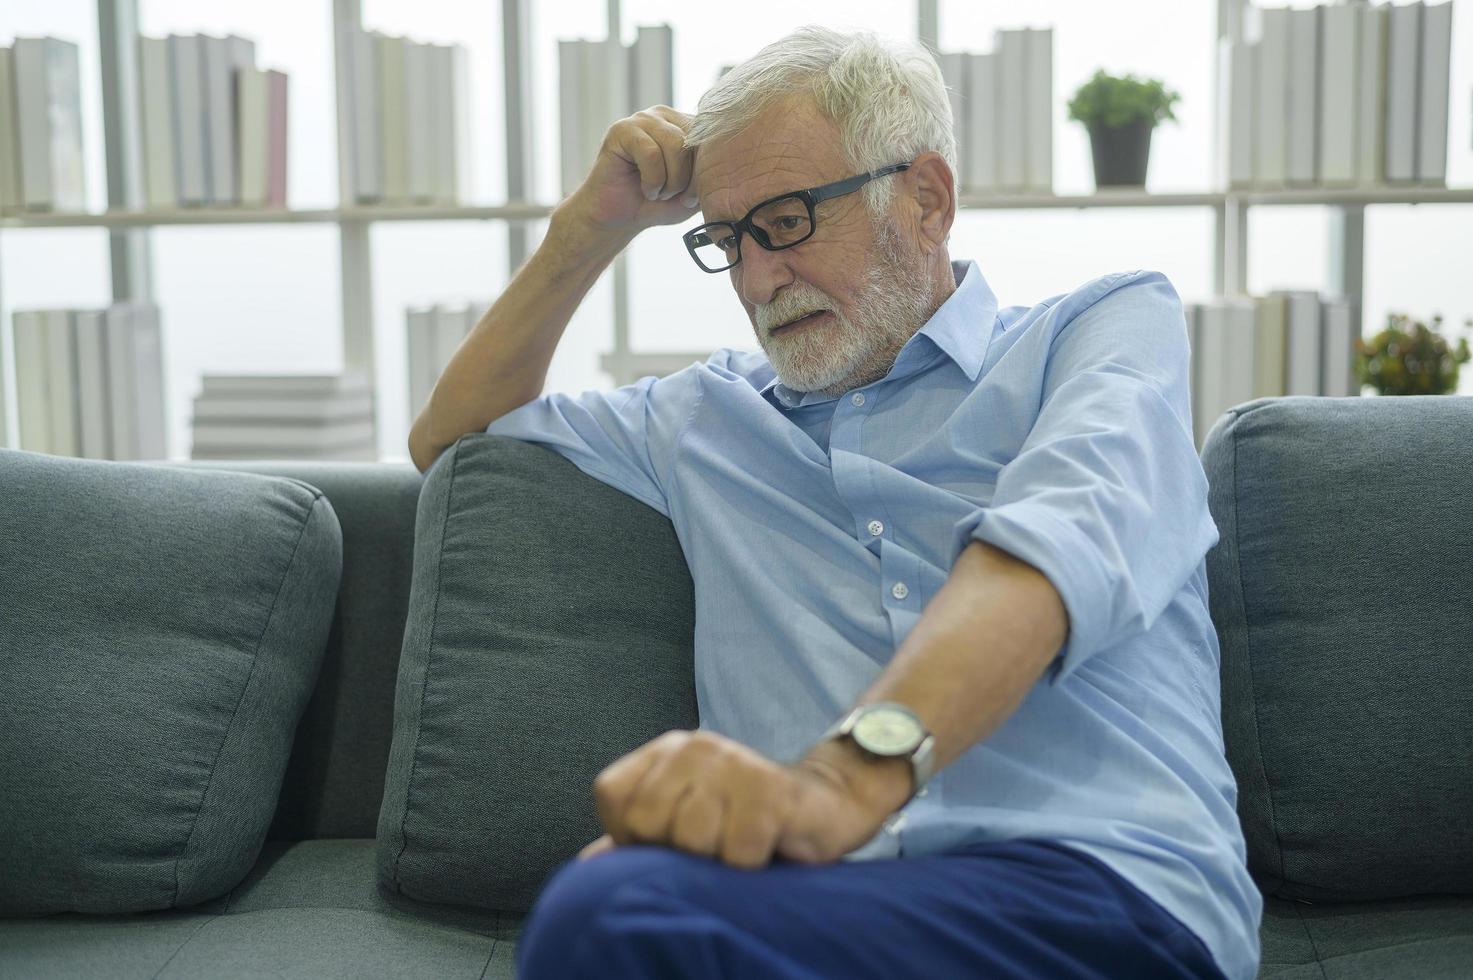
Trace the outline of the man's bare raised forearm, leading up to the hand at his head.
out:
[[[569,320],[627,239],[592,236],[560,205],[532,258],[461,342],[409,430],[424,472],[467,432],[542,393]]]

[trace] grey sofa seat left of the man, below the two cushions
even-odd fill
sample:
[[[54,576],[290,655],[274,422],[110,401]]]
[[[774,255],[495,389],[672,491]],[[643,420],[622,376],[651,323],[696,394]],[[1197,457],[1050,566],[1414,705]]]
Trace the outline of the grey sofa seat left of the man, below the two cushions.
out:
[[[273,841],[234,890],[190,909],[0,920],[0,976],[511,980],[520,927],[384,892],[373,840]]]

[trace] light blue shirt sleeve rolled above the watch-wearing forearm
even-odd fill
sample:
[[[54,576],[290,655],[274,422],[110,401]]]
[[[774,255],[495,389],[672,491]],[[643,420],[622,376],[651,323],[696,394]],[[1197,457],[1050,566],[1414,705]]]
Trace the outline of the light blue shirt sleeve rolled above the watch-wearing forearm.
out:
[[[1103,289],[1019,340],[1046,358],[1037,420],[993,500],[953,536],[953,561],[985,541],[1058,589],[1069,629],[1050,684],[1149,629],[1217,542],[1181,301],[1161,273]]]

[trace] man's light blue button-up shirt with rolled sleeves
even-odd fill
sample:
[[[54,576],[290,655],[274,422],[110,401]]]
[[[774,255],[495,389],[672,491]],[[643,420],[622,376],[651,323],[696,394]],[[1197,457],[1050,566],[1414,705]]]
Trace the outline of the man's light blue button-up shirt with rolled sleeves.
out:
[[[847,858],[1056,840],[1248,980],[1262,897],[1223,747],[1181,301],[1133,271],[999,309],[975,262],[953,273],[890,373],[838,398],[723,348],[613,392],[542,395],[486,432],[672,520],[701,728],[781,762],[881,675],[969,542],[1037,567],[1069,615],[1044,679]]]

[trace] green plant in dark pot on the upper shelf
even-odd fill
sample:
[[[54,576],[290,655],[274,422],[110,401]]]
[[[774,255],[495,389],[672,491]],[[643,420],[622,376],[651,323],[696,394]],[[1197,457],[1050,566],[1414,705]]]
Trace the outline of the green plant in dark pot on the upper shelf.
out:
[[[1103,69],[1069,99],[1069,118],[1090,133],[1096,187],[1145,187],[1150,131],[1177,121],[1171,106],[1181,96],[1155,78],[1108,75]]]

